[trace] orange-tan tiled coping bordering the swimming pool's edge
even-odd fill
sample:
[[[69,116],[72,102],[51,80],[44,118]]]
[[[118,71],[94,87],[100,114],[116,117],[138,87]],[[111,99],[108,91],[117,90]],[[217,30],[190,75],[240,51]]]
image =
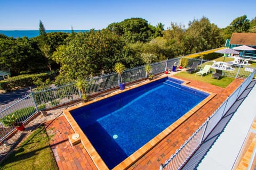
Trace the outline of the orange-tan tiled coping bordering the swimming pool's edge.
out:
[[[66,109],[65,111],[63,111],[63,114],[65,115],[67,121],[69,122],[70,126],[73,128],[73,130],[75,131],[75,133],[78,133],[80,135],[81,138],[81,142],[84,146],[84,148],[86,149],[86,151],[88,152],[88,154],[90,155],[91,159],[93,160],[95,166],[98,169],[109,169],[107,167],[107,165],[103,162],[103,160],[101,159],[100,155],[98,154],[98,152],[94,149],[94,147],[92,146],[91,142],[89,141],[89,139],[87,139],[86,135],[83,133],[82,129],[79,127],[79,125],[76,123],[74,117],[70,114],[69,111],[82,107],[82,106],[86,106],[89,105],[91,103],[94,103],[95,101],[99,101],[117,94],[120,94],[124,91],[127,90],[131,90],[133,88],[137,88],[140,86],[143,86],[147,83],[151,83],[153,81],[157,81],[159,79],[163,79],[165,77],[170,77],[173,78],[169,75],[163,75],[159,78],[156,78],[154,80],[151,81],[146,81],[146,82],[142,82],[140,84],[137,84],[135,86],[131,86],[131,87],[127,87],[124,90],[118,90],[115,91],[109,95],[100,97],[100,98],[96,98],[94,100],[88,101],[86,103],[82,103],[78,106],[74,106],[74,107],[70,107],[68,109]],[[183,115],[182,117],[180,117],[177,121],[175,121],[174,123],[172,123],[169,127],[167,127],[165,130],[163,130],[161,133],[159,133],[158,135],[156,135],[156,137],[154,137],[153,139],[151,139],[148,143],[146,143],[144,146],[142,146],[140,149],[138,149],[137,151],[135,151],[132,155],[130,155],[129,157],[127,157],[125,160],[123,160],[123,162],[119,163],[117,166],[115,166],[113,169],[126,169],[129,168],[130,166],[133,165],[134,162],[136,162],[137,160],[139,160],[142,156],[144,156],[148,151],[150,151],[152,148],[154,148],[159,142],[161,142],[167,135],[169,135],[173,130],[177,129],[183,122],[185,122],[191,115],[193,115],[196,111],[198,111],[198,109],[200,109],[202,106],[204,106],[208,101],[210,101],[216,94],[206,91],[206,90],[202,90],[199,88],[195,88],[193,86],[189,86],[189,81],[184,81],[178,78],[174,78],[177,80],[182,81],[182,86],[187,86],[189,88],[193,88],[196,90],[200,90],[203,92],[206,92],[207,94],[209,94],[208,97],[206,97],[203,101],[201,101],[201,103],[199,103],[198,105],[196,105],[195,107],[193,107],[190,111],[188,111],[185,115]]]

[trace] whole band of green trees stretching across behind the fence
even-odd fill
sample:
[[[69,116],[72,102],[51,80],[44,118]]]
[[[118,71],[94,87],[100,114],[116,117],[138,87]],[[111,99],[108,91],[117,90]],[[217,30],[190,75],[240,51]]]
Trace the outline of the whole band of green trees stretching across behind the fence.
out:
[[[246,15],[220,29],[209,19],[190,21],[188,27],[172,23],[164,29],[142,18],[114,22],[106,29],[76,33],[46,33],[39,21],[39,36],[9,38],[0,34],[0,65],[12,75],[60,69],[60,80],[77,80],[113,72],[121,62],[131,68],[221,47],[233,32],[256,32],[256,18]],[[47,69],[48,68],[48,69]]]

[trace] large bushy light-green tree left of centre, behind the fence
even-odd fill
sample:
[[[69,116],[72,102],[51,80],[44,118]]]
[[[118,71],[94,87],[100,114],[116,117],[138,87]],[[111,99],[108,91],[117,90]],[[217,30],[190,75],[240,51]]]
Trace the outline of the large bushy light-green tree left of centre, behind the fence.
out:
[[[77,33],[67,45],[57,48],[53,60],[60,64],[60,76],[76,80],[113,72],[116,62],[129,65],[125,58],[131,58],[130,55],[130,49],[119,36],[102,29]]]

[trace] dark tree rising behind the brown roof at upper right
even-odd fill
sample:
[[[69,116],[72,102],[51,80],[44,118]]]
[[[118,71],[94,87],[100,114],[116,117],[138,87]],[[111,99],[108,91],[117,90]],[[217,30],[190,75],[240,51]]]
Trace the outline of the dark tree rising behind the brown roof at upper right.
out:
[[[247,32],[250,28],[250,21],[246,15],[239,16],[230,23],[233,32]]]

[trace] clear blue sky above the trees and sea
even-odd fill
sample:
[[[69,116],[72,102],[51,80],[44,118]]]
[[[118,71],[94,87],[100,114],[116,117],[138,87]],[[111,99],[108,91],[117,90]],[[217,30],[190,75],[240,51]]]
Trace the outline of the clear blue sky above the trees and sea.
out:
[[[252,20],[255,6],[255,0],[0,0],[0,30],[38,30],[39,20],[46,30],[103,29],[129,18],[143,18],[151,25],[161,22],[166,29],[171,22],[187,27],[203,16],[225,28],[244,14]]]

